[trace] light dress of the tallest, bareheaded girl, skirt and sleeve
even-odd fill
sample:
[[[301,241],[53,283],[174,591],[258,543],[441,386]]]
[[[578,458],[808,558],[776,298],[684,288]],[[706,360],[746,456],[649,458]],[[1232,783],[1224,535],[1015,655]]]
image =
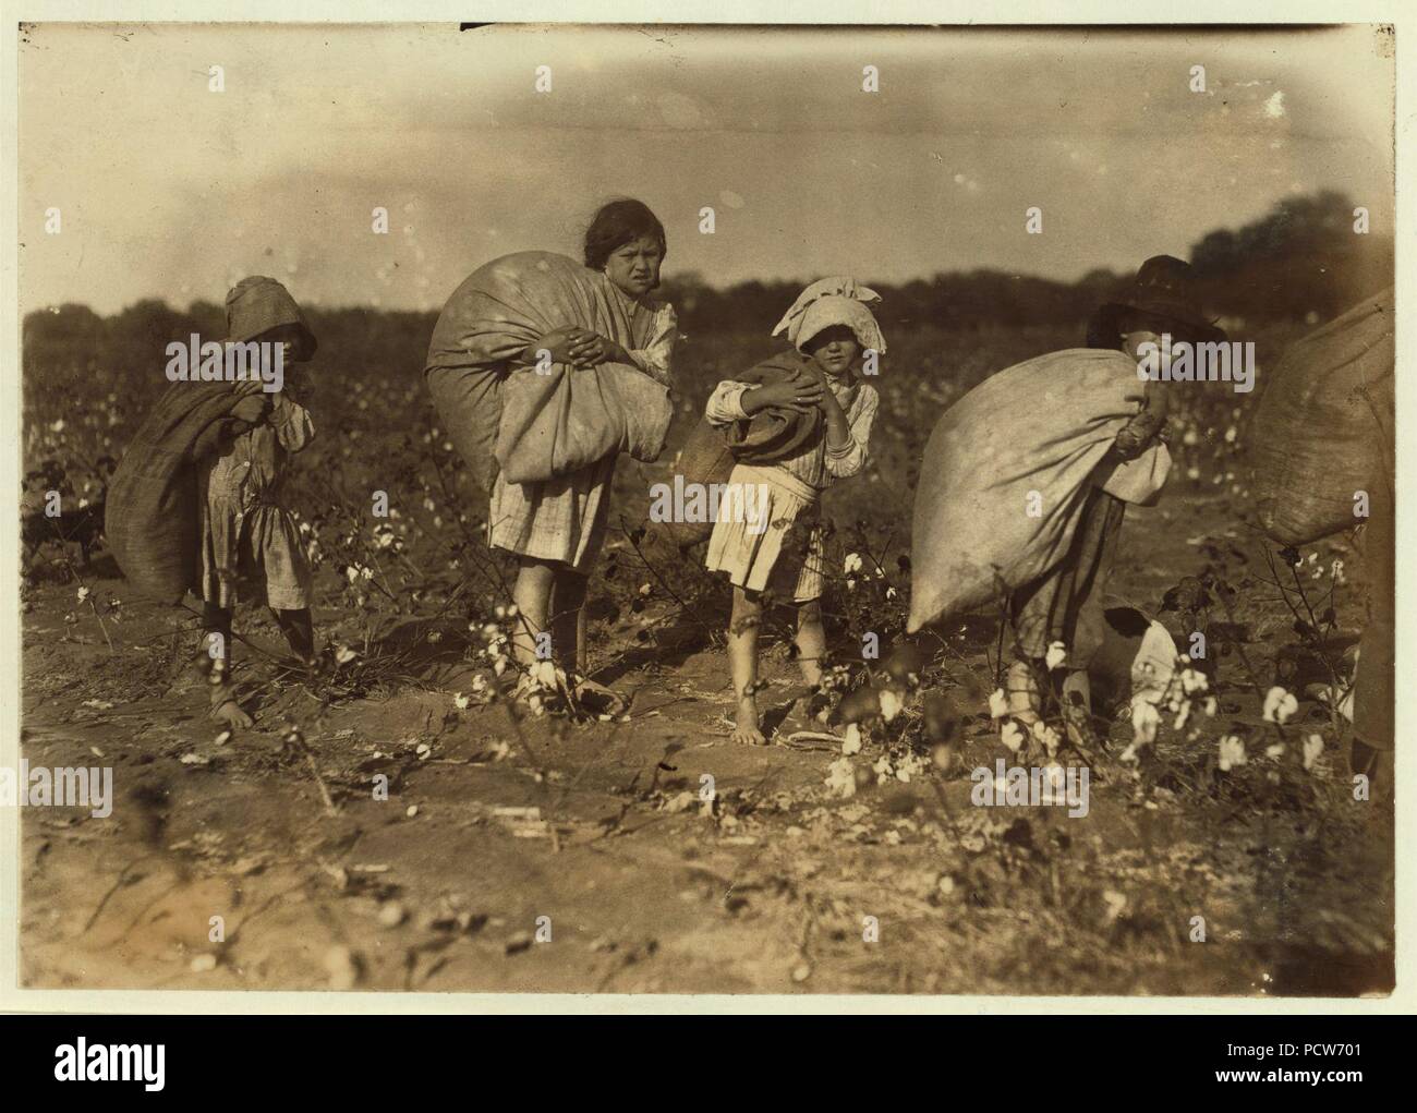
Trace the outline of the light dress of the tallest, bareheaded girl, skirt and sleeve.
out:
[[[629,350],[629,357],[656,383],[672,386],[670,367],[679,340],[674,308],[667,302],[643,302],[639,309],[652,315],[649,340],[645,347]],[[605,543],[614,478],[615,457],[537,483],[509,483],[499,474],[487,513],[490,544],[584,573]]]

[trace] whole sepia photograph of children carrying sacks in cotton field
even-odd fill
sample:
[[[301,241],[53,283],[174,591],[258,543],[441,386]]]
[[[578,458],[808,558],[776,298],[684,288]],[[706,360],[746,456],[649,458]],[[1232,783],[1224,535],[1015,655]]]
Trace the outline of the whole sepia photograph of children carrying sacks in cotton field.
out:
[[[21,990],[1394,992],[1394,27],[16,34]]]

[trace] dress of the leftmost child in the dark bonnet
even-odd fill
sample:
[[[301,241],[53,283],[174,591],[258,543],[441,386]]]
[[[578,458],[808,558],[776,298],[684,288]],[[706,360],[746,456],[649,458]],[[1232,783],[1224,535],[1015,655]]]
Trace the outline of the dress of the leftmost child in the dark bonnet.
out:
[[[286,461],[315,437],[309,411],[285,391],[265,424],[201,464],[201,594],[231,608],[310,605],[310,561],[285,499]]]

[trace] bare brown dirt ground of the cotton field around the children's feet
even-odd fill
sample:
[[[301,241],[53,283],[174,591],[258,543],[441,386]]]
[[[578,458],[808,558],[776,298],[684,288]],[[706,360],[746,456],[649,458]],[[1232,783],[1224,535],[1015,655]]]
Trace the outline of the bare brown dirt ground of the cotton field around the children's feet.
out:
[[[1037,337],[1027,343],[1047,350]],[[1029,354],[1020,347],[986,362],[1000,367]],[[694,359],[690,408],[733,356],[710,347]],[[924,356],[917,363],[928,367]],[[982,363],[969,371],[982,373]],[[908,552],[910,461],[969,376],[930,381],[930,390],[915,380],[883,387],[874,475],[836,505],[840,549],[876,539],[866,546],[864,581],[837,583],[829,595],[833,645],[847,661],[860,625],[856,601],[908,590],[896,557]],[[354,396],[347,414],[324,420],[322,435],[339,445],[341,432],[363,431],[361,451],[378,458],[370,444],[378,423],[359,418],[366,407]],[[41,430],[51,420],[27,417]],[[122,421],[119,431],[130,427]],[[1295,581],[1331,591],[1336,614],[1322,637],[1295,632],[1288,604],[1263,583],[1263,544],[1240,525],[1240,482],[1223,478],[1231,459],[1224,424],[1200,417],[1195,428],[1195,451],[1176,442],[1178,478],[1162,505],[1128,512],[1111,590],[1118,604],[1170,624],[1176,615],[1161,604],[1182,577],[1236,586],[1226,605],[1212,591],[1207,610],[1219,703],[1199,734],[1165,727],[1139,767],[1119,760],[1132,725],[1114,722],[1110,743],[1093,754],[1085,818],[971,802],[969,771],[1009,756],[986,703],[990,615],[935,644],[924,675],[924,690],[949,692],[966,715],[951,767],[931,761],[915,692],[893,729],[867,732],[852,761],[857,787],[846,795],[828,784],[839,744],[728,742],[718,637],[727,595],[701,577],[660,571],[652,554],[640,561],[633,532],[615,537],[592,584],[599,679],[628,700],[626,717],[514,716],[504,702],[469,698],[473,678],[487,675],[472,631],[489,617],[495,590],[452,604],[468,564],[438,580],[436,591],[431,573],[428,583],[408,573],[393,594],[418,593],[415,603],[371,617],[383,604],[351,603],[339,566],[354,559],[333,552],[326,519],[320,536],[334,570],[316,624],[359,664],[332,682],[279,682],[271,662],[238,647],[238,679],[258,726],[230,739],[205,717],[204,685],[188,664],[191,622],[179,628],[171,614],[128,598],[102,550],[85,571],[54,563],[51,546],[51,563],[24,593],[23,753],[31,766],[112,766],[116,802],[108,820],[78,808],[26,811],[24,981],[1383,992],[1393,984],[1391,814],[1353,800],[1340,730],[1319,702],[1302,698],[1285,726],[1261,722],[1271,682],[1288,678],[1302,696],[1315,654],[1336,656],[1353,641],[1360,560],[1346,539],[1316,546],[1314,560],[1305,553]],[[390,435],[417,441],[417,432]],[[34,461],[60,451],[28,448]],[[646,475],[655,468],[622,464],[616,506],[629,508],[635,492],[643,502]],[[354,500],[359,483],[343,482]],[[425,479],[421,491],[436,486]],[[404,505],[418,498],[410,483]],[[442,505],[438,512],[448,513]],[[852,518],[867,527],[853,533]],[[421,520],[415,532],[432,536],[439,526],[452,532],[442,519]],[[412,535],[407,552],[428,573]],[[1335,559],[1346,577],[1316,574]],[[425,605],[434,595],[438,605]],[[884,645],[898,622],[898,607],[880,615]],[[238,631],[276,641],[262,615],[238,615]],[[850,683],[863,682],[860,664],[853,669]],[[772,725],[803,690],[784,645],[768,649],[765,676]],[[1227,733],[1244,740],[1247,761],[1221,770],[1217,740]],[[1309,733],[1325,746],[1301,763]],[[1282,753],[1268,753],[1277,746]],[[700,800],[704,774],[716,790],[708,802]],[[387,800],[374,798],[380,776]],[[221,941],[213,941],[213,917],[221,917]],[[1195,917],[1203,917],[1204,941]]]

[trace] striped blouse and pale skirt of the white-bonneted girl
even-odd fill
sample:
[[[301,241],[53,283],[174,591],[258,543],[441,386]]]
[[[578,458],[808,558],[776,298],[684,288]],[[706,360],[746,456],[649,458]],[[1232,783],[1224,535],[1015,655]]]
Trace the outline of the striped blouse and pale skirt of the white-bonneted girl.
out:
[[[846,413],[850,428],[847,444],[832,448],[823,434],[811,448],[778,464],[735,464],[733,468],[728,482],[744,485],[734,489],[745,491],[747,485],[752,485],[755,492],[761,492],[752,500],[757,513],[720,516],[708,539],[706,563],[710,571],[728,573],[737,587],[791,591],[795,603],[822,597],[826,574],[825,536],[818,523],[822,492],[866,465],[871,425],[880,406],[876,387],[859,379],[828,379],[828,386]],[[720,383],[704,408],[708,423],[727,425],[747,420],[741,401],[745,390],[752,390],[752,384]],[[761,525],[764,516],[765,527]]]

